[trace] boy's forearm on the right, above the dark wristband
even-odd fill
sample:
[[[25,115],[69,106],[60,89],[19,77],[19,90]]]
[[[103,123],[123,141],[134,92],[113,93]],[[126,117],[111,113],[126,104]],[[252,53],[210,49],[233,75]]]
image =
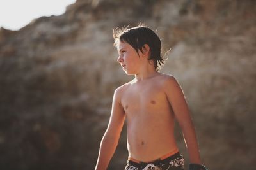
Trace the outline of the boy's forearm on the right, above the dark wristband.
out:
[[[195,164],[202,164],[193,124],[187,124],[186,126],[182,127],[182,132],[186,147],[188,149],[190,162]]]

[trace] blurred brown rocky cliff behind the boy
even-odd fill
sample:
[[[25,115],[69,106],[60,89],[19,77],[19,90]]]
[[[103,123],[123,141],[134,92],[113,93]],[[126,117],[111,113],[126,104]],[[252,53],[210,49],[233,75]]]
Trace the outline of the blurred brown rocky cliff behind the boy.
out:
[[[93,169],[113,91],[131,80],[112,30],[144,22],[172,48],[209,169],[254,169],[256,1],[77,0],[61,16],[0,29],[0,169]],[[180,151],[188,153],[177,128]],[[109,169],[124,169],[125,129]]]

